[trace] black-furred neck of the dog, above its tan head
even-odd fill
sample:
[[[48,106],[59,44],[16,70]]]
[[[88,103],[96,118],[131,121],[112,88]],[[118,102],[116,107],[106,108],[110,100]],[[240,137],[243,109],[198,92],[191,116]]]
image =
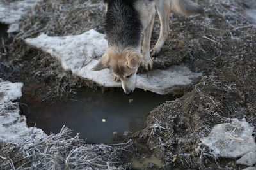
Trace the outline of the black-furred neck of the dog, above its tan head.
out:
[[[122,53],[140,48],[143,26],[134,8],[134,1],[113,0],[106,13],[106,34],[109,46]]]

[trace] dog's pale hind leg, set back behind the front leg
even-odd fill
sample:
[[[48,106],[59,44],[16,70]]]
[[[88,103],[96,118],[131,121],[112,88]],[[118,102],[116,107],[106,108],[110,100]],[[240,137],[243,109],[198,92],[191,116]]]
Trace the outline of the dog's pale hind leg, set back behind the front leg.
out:
[[[157,13],[161,23],[160,35],[157,40],[156,45],[151,50],[151,55],[154,56],[160,52],[165,39],[168,37],[170,27],[169,27],[169,17],[171,11],[171,3],[166,0],[156,0]]]

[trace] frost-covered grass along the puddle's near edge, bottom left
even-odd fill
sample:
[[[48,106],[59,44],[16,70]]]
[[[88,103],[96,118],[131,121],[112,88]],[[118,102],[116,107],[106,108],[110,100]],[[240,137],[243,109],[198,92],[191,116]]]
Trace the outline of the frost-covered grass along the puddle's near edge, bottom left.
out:
[[[0,169],[125,169],[120,160],[132,153],[132,142],[113,145],[90,145],[70,136],[70,129],[20,145],[8,143],[0,155]],[[13,168],[14,169],[14,168]]]

